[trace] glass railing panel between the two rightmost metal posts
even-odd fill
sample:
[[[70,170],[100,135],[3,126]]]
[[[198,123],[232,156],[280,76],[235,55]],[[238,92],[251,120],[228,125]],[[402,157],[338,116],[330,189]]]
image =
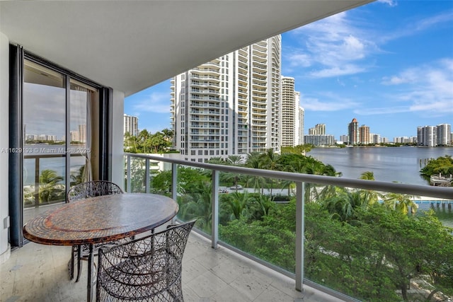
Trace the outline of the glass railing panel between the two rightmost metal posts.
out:
[[[230,174],[219,200],[219,240],[294,273],[294,184],[287,180]],[[280,219],[292,215],[287,219]],[[280,217],[280,218],[279,218]]]

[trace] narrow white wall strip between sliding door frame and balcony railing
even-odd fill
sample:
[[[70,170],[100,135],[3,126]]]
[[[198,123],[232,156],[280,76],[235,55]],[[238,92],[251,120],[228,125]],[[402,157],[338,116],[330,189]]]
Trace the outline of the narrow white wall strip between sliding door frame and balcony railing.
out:
[[[125,163],[123,152],[125,94],[113,91],[112,181],[124,190]]]

